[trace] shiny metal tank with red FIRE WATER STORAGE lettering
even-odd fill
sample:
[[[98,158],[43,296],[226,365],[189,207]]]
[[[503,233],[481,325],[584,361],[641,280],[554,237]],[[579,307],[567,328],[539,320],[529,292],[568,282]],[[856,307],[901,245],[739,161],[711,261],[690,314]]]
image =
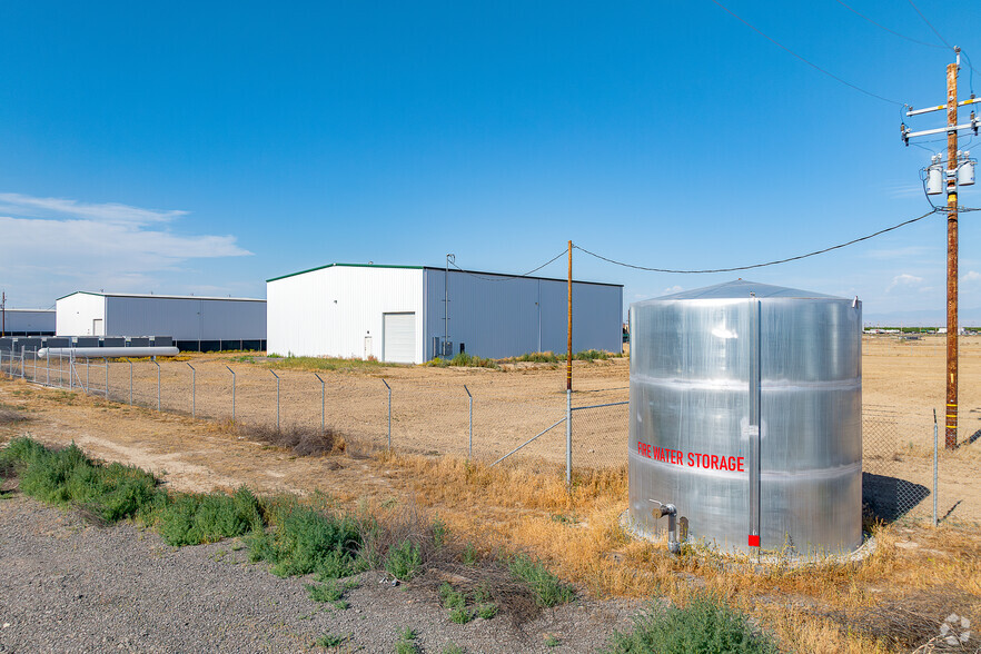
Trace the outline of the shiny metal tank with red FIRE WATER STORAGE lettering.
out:
[[[630,518],[797,555],[862,544],[862,307],[736,280],[631,305]],[[684,529],[682,529],[684,531]]]

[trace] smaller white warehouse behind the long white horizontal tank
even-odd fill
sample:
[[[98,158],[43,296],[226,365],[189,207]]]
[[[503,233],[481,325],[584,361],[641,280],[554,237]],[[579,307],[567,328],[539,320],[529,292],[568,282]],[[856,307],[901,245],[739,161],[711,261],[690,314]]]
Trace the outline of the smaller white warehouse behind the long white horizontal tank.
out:
[[[266,300],[77,291],[58,298],[58,336],[170,336],[180,349],[265,349]]]

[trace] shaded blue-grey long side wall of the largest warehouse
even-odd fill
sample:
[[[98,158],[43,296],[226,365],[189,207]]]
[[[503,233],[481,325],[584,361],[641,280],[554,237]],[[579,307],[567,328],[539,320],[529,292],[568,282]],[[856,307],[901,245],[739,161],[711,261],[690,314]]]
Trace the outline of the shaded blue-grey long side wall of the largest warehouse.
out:
[[[446,272],[426,269],[428,307],[426,353],[433,337],[444,335]],[[454,353],[466,344],[470,354],[502,358],[528,351],[566,349],[566,283],[449,272],[449,340]],[[618,286],[573,283],[573,349],[620,351],[623,289]]]

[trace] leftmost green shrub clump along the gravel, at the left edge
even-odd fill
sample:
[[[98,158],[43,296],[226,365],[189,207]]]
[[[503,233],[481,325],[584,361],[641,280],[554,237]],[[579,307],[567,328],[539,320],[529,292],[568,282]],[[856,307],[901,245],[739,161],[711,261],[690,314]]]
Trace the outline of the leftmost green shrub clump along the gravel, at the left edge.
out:
[[[78,505],[109,523],[148,512],[160,496],[153,475],[119,463],[99,465],[73,443],[51,450],[31,438],[16,438],[0,456],[13,465],[26,495]]]

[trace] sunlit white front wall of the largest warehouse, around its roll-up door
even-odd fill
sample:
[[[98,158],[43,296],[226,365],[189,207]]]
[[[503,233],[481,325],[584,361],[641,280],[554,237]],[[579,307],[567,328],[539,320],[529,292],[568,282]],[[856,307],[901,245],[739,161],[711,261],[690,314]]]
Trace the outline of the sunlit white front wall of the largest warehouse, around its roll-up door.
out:
[[[268,281],[268,349],[297,356],[382,357],[383,314],[414,313],[423,363],[423,270],[331,266]]]

